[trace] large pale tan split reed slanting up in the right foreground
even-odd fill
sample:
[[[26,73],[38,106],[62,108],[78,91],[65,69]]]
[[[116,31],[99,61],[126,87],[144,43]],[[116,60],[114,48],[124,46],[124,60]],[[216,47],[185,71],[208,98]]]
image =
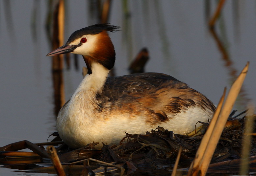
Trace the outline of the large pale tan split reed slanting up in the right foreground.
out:
[[[242,87],[243,80],[248,71],[248,66],[249,66],[249,62],[247,62],[243,71],[231,86],[230,91],[227,95],[226,101],[224,102],[223,108],[220,111],[220,107],[224,99],[224,94],[225,94],[225,91],[224,91],[224,94],[220,99],[220,102],[213,116],[213,119],[210,122],[210,125],[201,141],[199,148],[197,149],[195,158],[190,166],[188,176],[198,175],[199,173],[201,176],[204,176],[206,174],[209,164],[211,162],[213,153],[218,144],[220,135],[224,129],[228,116],[231,112],[231,109]],[[219,113],[219,116],[218,116],[218,113]]]

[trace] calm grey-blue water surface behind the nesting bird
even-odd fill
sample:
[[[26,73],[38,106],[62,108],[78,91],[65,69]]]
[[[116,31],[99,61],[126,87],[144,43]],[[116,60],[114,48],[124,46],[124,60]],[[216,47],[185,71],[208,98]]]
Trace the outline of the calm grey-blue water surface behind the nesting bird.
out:
[[[65,40],[75,30],[98,23],[88,2],[66,1]],[[210,1],[210,14],[215,2]],[[230,88],[250,61],[243,94],[234,107],[242,111],[256,100],[255,7],[256,1],[249,0],[227,0],[224,5],[216,32],[229,56],[227,66],[208,31],[205,1],[128,1],[127,15],[122,1],[114,0],[109,22],[121,26],[118,33],[110,33],[115,74],[128,74],[132,58],[147,47],[146,72],[169,74],[217,104],[224,87]],[[51,58],[45,57],[51,51],[45,31],[47,11],[45,0],[0,0],[0,146],[20,140],[46,142],[56,131]],[[70,70],[64,71],[66,100],[82,79],[85,64],[78,58],[78,71],[72,60]],[[0,168],[0,175],[19,174]]]

